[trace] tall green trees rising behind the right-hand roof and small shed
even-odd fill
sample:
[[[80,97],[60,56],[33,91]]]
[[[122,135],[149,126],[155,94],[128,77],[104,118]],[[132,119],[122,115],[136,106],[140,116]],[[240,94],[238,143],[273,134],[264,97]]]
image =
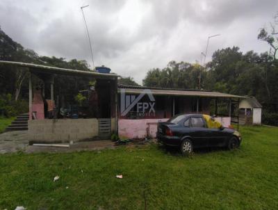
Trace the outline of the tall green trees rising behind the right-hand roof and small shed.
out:
[[[244,54],[238,47],[219,49],[206,67],[205,70],[197,63],[171,61],[163,69],[149,70],[143,85],[198,89],[201,73],[201,88],[234,95],[252,95],[265,108],[277,111],[278,62],[268,53],[247,51]]]

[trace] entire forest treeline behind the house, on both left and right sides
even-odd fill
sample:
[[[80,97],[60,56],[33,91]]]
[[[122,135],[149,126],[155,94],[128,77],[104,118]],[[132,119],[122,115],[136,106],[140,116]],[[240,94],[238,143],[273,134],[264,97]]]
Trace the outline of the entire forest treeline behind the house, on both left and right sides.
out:
[[[254,96],[263,105],[264,118],[275,118],[278,121],[278,33],[275,31],[277,22],[271,26],[269,30],[261,29],[257,35],[258,42],[267,42],[270,46],[268,52],[258,54],[254,51],[247,51],[243,53],[239,47],[227,47],[215,51],[211,61],[205,65],[173,60],[163,69],[149,70],[142,85],[216,90],[234,95]],[[90,70],[86,60],[39,56],[32,49],[24,49],[1,29],[0,60]],[[24,101],[28,98],[28,73],[20,67],[16,71],[12,68],[14,67],[0,65],[0,111],[2,110],[2,114],[7,99],[12,103],[12,101]],[[120,77],[119,83],[138,85],[132,77]]]

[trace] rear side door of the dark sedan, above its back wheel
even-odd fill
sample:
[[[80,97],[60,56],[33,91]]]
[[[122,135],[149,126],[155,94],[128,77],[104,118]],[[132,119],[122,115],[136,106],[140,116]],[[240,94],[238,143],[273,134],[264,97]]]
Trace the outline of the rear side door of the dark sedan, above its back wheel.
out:
[[[206,130],[206,124],[202,117],[191,117],[190,136],[193,138],[193,147],[206,147],[208,145]]]

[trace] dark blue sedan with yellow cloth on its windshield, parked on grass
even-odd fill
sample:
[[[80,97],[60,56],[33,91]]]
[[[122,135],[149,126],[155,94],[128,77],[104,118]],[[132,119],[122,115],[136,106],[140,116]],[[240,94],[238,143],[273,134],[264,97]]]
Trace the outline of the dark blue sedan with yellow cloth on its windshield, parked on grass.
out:
[[[199,147],[239,147],[238,131],[222,127],[209,115],[176,115],[167,122],[159,122],[157,139],[164,145],[179,147],[181,153],[193,152]]]

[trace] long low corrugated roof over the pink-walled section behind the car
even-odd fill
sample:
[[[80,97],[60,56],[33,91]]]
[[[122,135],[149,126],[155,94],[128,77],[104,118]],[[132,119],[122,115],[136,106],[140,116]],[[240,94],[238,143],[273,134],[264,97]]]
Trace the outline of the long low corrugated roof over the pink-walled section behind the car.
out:
[[[170,88],[149,88],[145,86],[124,86],[118,85],[118,91],[123,88],[126,93],[140,94],[144,89],[152,91],[153,95],[177,95],[177,96],[198,96],[198,97],[219,97],[219,98],[245,98],[240,95],[231,95],[222,92],[215,92],[209,90],[183,90]]]

